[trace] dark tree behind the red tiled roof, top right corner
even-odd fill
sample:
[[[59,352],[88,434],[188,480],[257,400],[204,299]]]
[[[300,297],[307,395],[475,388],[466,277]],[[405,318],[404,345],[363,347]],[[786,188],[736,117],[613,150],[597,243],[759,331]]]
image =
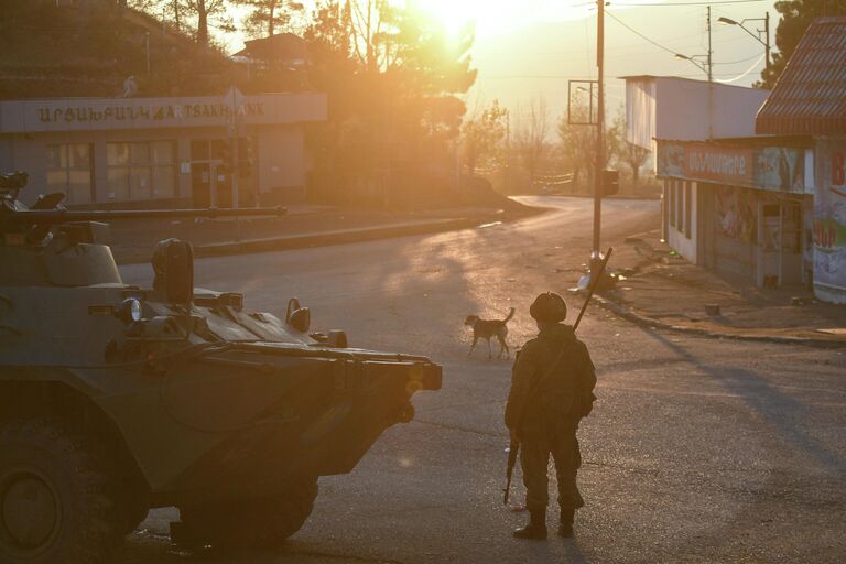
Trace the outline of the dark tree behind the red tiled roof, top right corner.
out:
[[[791,55],[796,50],[799,40],[815,18],[822,15],[846,15],[846,0],[781,0],[776,2],[776,11],[781,21],[776,30],[776,46],[772,65],[761,72],[761,82],[756,86],[772,88],[784,70]]]

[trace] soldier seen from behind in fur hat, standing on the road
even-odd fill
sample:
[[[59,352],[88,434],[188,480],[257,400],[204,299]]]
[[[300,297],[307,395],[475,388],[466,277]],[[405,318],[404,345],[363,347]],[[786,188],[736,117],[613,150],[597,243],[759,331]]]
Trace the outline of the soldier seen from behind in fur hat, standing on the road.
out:
[[[590,355],[572,326],[564,300],[555,293],[539,295],[530,308],[540,334],[520,351],[511,377],[506,426],[520,444],[520,465],[527,489],[530,521],[514,531],[518,539],[546,538],[549,480],[552,454],[558,479],[558,535],[573,536],[573,519],[584,500],[576,486],[582,465],[576,430],[590,413],[596,375]]]

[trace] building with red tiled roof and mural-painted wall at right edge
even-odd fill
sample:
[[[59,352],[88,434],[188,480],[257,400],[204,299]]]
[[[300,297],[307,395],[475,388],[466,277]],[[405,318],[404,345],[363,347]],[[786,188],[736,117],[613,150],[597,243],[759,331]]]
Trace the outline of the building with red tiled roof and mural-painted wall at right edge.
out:
[[[813,21],[758,112],[756,130],[812,137],[814,293],[846,303],[846,18]]]

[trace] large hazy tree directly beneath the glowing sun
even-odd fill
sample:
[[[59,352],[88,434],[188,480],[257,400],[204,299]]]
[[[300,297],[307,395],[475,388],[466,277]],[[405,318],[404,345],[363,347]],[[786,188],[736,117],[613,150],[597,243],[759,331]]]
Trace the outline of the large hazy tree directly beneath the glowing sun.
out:
[[[394,161],[410,174],[437,167],[466,111],[455,95],[476,79],[471,28],[452,36],[413,1],[324,0],[305,39],[312,84],[329,96],[324,167],[382,186]]]

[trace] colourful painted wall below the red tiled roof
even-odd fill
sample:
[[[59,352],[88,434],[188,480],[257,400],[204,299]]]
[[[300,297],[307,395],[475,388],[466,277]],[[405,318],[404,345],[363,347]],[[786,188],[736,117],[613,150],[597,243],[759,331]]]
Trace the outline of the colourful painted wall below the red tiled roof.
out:
[[[846,138],[817,139],[814,293],[846,303]]]

